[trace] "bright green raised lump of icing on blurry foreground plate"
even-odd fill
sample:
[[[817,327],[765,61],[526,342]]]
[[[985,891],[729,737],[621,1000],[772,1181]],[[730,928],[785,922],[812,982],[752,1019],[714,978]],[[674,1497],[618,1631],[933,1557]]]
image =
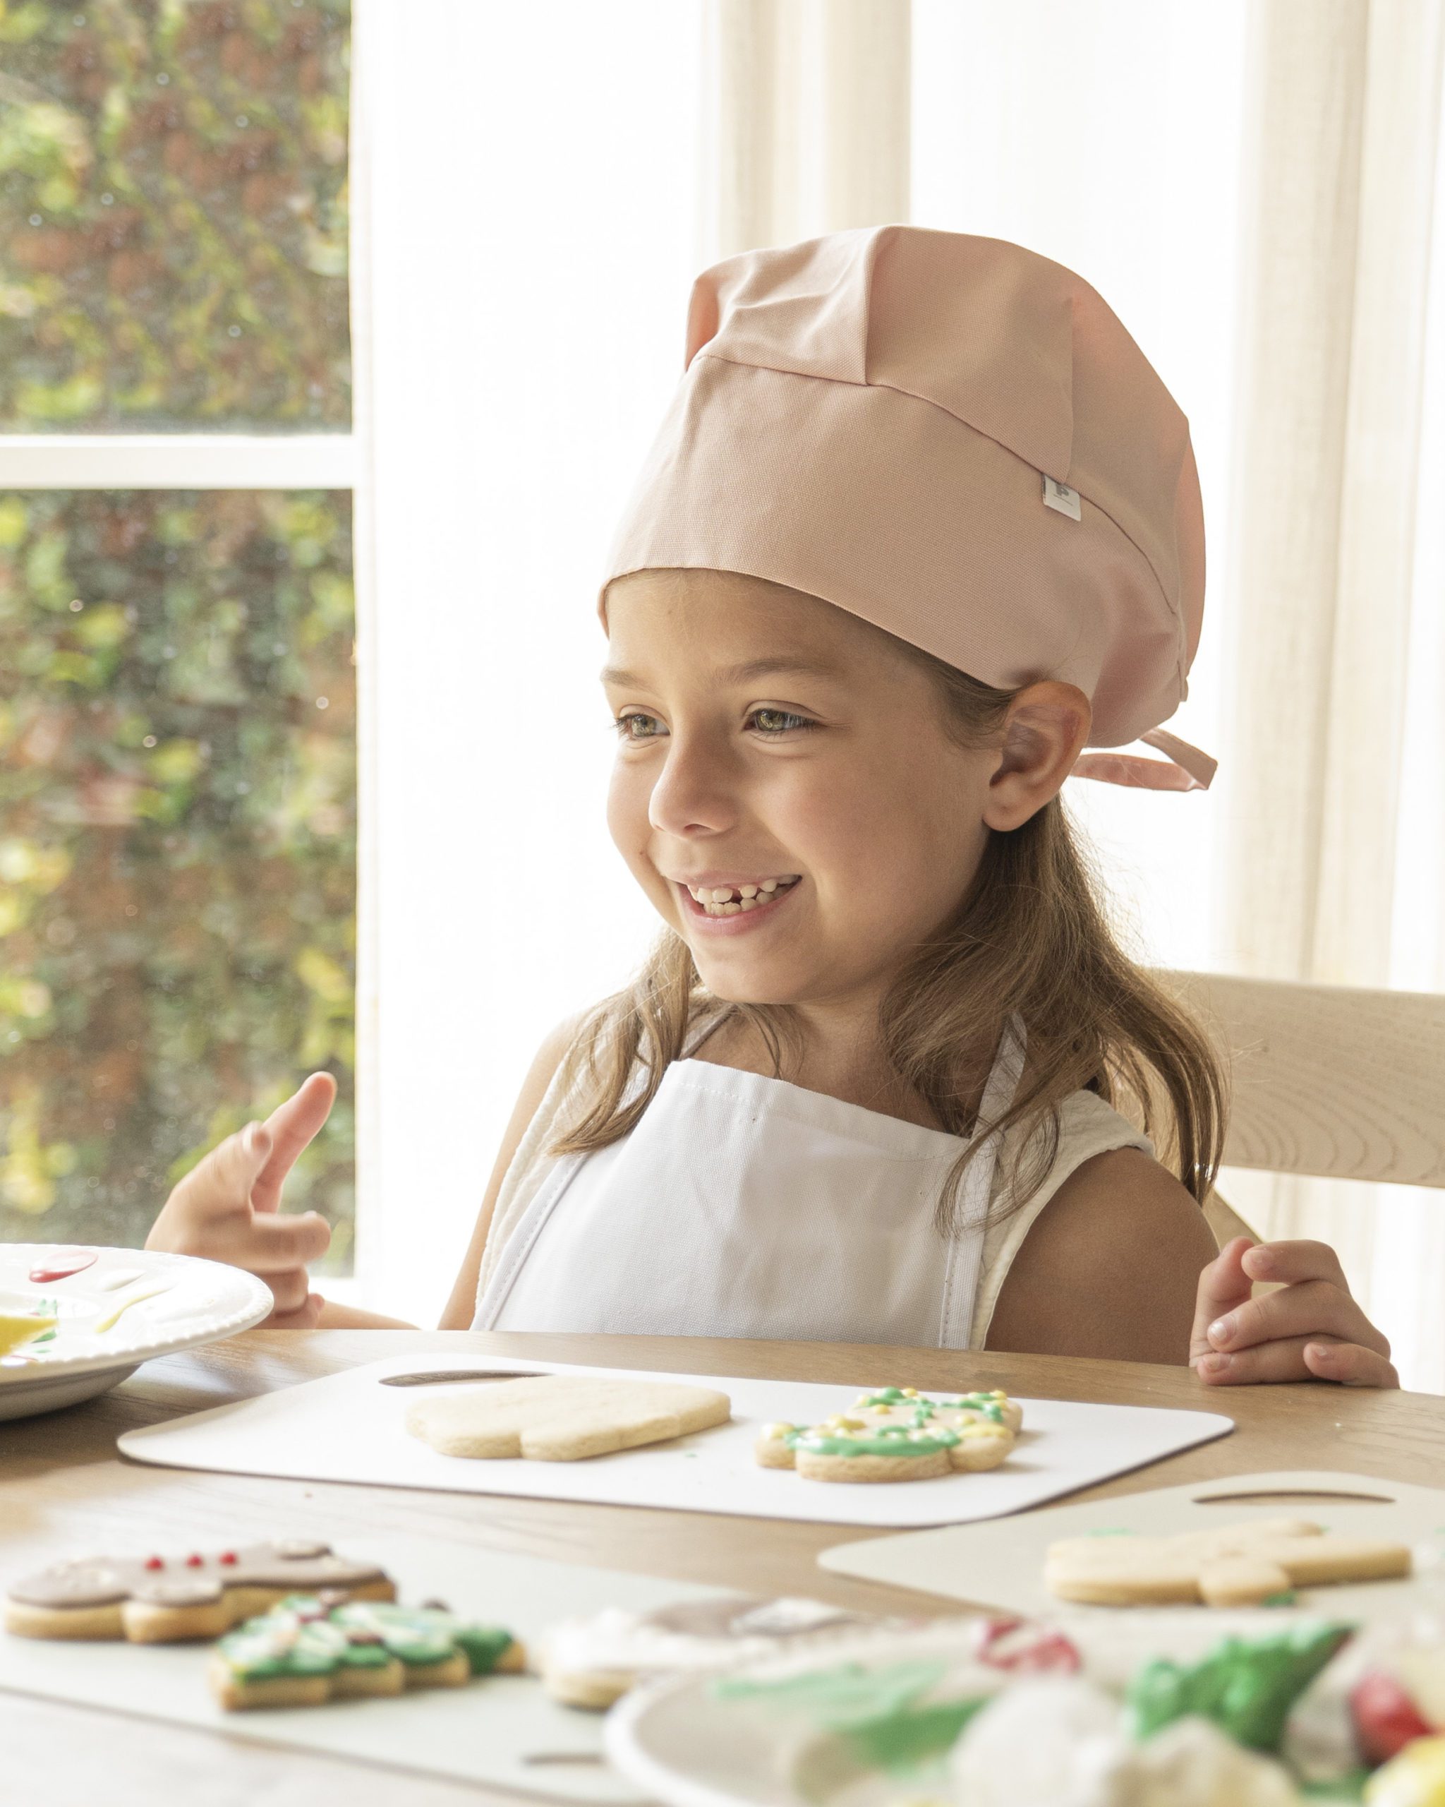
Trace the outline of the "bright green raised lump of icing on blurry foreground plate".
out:
[[[1194,1664],[1147,1662],[1125,1697],[1134,1737],[1152,1738],[1196,1713],[1235,1744],[1277,1751],[1290,1708],[1351,1632],[1347,1624],[1293,1624],[1268,1637],[1226,1637]]]

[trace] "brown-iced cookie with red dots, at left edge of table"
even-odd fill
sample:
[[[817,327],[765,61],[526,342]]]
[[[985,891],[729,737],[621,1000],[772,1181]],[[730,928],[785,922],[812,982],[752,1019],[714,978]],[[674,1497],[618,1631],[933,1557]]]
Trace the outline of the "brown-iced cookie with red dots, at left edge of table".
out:
[[[318,1588],[338,1590],[338,1597],[396,1599],[396,1587],[376,1563],[352,1563],[329,1543],[293,1540],[215,1556],[56,1563],[11,1587],[5,1630],[20,1637],[170,1644],[220,1637],[287,1594]]]

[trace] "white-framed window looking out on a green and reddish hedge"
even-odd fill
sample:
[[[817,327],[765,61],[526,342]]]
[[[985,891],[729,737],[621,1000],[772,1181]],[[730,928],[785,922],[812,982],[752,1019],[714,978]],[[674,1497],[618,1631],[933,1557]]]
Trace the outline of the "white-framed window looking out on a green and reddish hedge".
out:
[[[311,1070],[354,1222],[345,0],[0,16],[0,1238]]]

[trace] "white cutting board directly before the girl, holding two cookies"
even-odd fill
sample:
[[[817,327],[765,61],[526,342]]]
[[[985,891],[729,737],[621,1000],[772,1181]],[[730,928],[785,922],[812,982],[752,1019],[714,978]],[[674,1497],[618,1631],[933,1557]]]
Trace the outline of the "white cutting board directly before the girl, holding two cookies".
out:
[[[493,1375],[587,1373],[683,1381],[721,1388],[733,1402],[733,1417],[730,1424],[710,1431],[587,1462],[477,1462],[443,1456],[410,1437],[403,1422],[406,1406],[423,1395],[423,1388],[385,1382],[403,1373],[468,1370]],[[887,1373],[874,1381],[876,1386],[887,1382]],[[946,1475],[890,1487],[840,1487],[800,1480],[791,1469],[757,1465],[753,1442],[764,1424],[778,1418],[815,1424],[847,1409],[858,1391],[856,1386],[804,1381],[668,1375],[564,1362],[484,1361],[477,1355],[406,1355],[126,1431],[119,1447],[135,1462],[217,1469],[226,1475],[285,1475],[378,1487],[594,1500],[685,1512],[804,1518],[833,1525],[941,1525],[1017,1512],[1234,1429],[1232,1418],[1212,1411],[1028,1399],[1022,1400],[1024,1435],[1010,1460],[988,1475]]]

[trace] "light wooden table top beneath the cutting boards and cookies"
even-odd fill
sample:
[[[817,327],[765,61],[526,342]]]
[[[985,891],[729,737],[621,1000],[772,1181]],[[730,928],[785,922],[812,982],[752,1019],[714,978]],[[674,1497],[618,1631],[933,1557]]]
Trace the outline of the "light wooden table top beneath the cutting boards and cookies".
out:
[[[722,1343],[652,1337],[482,1335],[405,1330],[253,1330],[193,1355],[146,1364],[125,1386],[43,1418],[0,1424],[0,1538],[7,1552],[43,1541],[74,1552],[148,1543],[204,1547],[264,1538],[276,1523],[314,1525],[345,1545],[365,1532],[434,1532],[748,1592],[813,1594],[840,1605],[912,1610],[919,1596],[831,1576],[820,1549],[874,1532],[755,1518],[712,1518],[556,1500],[484,1498],[327,1482],[191,1475],[116,1455],[116,1437],[184,1411],[293,1386],[383,1355],[515,1355],[681,1373],[836,1381],[943,1391],[1002,1386],[1035,1399],[1192,1406],[1237,1420],[1232,1437],[1125,1475],[1075,1498],[1105,1498],[1261,1469],[1346,1469],[1438,1485],[1445,1476],[1445,1399],[1311,1386],[1207,1390],[1189,1370],[1044,1355],[961,1355],[827,1343]],[[9,1559],[9,1558],[7,1558]],[[457,1807],[506,1800],[482,1789],[379,1774],[361,1765],[222,1740],[0,1691],[0,1751],[11,1785],[47,1802],[152,1807]],[[20,1794],[16,1793],[16,1800]]]

